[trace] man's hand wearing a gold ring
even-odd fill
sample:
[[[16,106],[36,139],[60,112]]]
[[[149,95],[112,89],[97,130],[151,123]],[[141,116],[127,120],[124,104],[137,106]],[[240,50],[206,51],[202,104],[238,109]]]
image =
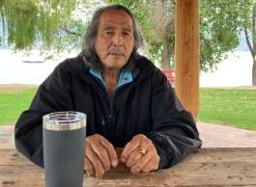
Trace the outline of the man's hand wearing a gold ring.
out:
[[[145,152],[143,152],[143,149]],[[142,151],[141,151],[142,150]],[[124,148],[121,159],[126,162],[132,174],[150,173],[159,165],[159,155],[150,139],[143,134],[138,134]]]

